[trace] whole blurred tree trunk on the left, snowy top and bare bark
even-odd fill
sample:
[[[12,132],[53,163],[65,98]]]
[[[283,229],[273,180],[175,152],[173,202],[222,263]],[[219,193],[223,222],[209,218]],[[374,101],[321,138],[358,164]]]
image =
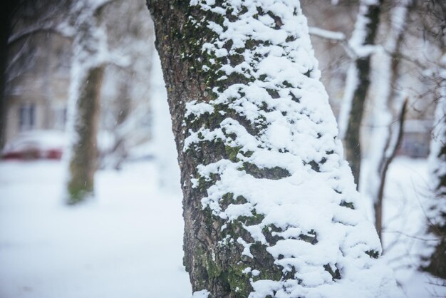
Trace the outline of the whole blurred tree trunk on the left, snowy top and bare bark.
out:
[[[93,195],[97,168],[97,130],[100,86],[103,77],[105,33],[98,26],[100,8],[106,1],[73,1],[73,66],[69,98],[71,148],[68,153],[69,173],[67,200],[81,202]]]

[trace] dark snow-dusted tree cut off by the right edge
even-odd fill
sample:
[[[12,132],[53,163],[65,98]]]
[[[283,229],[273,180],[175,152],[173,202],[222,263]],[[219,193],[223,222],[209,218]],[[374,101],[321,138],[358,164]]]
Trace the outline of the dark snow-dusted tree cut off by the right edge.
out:
[[[422,269],[446,279],[446,4],[442,1],[417,1],[426,38],[440,50],[440,57],[424,65],[427,78],[434,83],[436,103],[430,143],[430,200],[427,201],[427,238],[422,247]],[[437,58],[437,60],[435,60]],[[429,67],[430,66],[430,67]]]

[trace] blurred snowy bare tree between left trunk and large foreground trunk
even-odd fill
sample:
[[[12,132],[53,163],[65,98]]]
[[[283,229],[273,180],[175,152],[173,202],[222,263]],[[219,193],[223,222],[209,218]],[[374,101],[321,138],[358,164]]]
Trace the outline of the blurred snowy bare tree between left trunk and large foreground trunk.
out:
[[[103,11],[108,47],[126,63],[109,59],[105,64],[99,139],[106,135],[108,145],[100,145],[100,168],[120,169],[132,148],[152,138],[155,36],[148,14],[145,3],[138,0],[114,0]]]

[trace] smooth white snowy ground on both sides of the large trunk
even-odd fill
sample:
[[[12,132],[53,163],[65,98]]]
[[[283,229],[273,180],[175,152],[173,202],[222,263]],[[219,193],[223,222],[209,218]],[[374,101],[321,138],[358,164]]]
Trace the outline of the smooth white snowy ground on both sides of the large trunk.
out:
[[[100,171],[95,200],[66,207],[61,162],[1,162],[0,297],[190,297],[181,195],[157,173],[152,162]],[[414,268],[426,179],[425,160],[398,158],[387,185],[386,258],[413,298],[446,296]]]

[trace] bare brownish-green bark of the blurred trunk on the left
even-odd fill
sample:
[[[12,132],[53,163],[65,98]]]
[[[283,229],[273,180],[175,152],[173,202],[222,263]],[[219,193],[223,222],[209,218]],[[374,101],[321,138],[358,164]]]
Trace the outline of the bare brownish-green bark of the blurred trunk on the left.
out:
[[[70,180],[68,181],[69,204],[76,204],[92,196],[94,175],[97,168],[100,86],[103,78],[103,66],[90,68],[86,80],[82,83],[77,101],[76,134],[78,141],[72,148],[70,160]]]

